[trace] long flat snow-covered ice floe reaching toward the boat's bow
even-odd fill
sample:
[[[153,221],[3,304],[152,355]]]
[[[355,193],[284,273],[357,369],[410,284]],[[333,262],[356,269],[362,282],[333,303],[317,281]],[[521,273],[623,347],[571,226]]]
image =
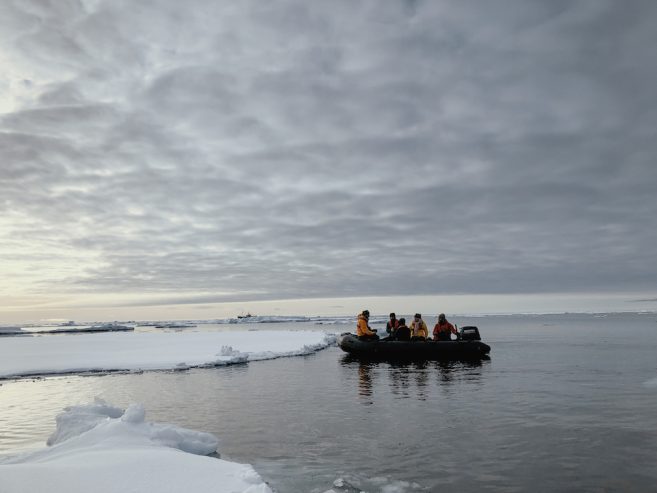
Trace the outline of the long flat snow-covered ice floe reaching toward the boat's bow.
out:
[[[310,354],[334,342],[324,332],[274,330],[6,337],[0,378],[227,365]]]

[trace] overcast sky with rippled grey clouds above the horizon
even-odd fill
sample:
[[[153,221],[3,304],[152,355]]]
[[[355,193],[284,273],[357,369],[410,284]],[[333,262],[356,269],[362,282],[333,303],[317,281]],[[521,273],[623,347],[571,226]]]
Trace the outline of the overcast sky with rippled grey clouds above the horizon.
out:
[[[657,309],[655,46],[652,0],[3,1],[0,322]]]

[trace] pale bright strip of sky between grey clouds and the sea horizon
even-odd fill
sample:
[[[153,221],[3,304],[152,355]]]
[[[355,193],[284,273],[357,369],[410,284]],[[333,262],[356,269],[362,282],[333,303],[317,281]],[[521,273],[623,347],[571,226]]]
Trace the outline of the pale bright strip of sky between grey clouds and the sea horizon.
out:
[[[316,298],[220,303],[189,303],[122,306],[114,295],[92,297],[87,306],[74,308],[59,299],[43,304],[13,304],[7,299],[0,307],[0,324],[34,324],[75,320],[77,322],[147,321],[147,320],[211,320],[251,313],[259,316],[350,316],[364,309],[373,315],[411,314],[420,312],[431,318],[440,312],[456,316],[533,314],[533,313],[604,313],[657,311],[654,294],[532,294],[532,295],[423,295],[372,296],[350,298]],[[32,300],[34,301],[34,300]]]

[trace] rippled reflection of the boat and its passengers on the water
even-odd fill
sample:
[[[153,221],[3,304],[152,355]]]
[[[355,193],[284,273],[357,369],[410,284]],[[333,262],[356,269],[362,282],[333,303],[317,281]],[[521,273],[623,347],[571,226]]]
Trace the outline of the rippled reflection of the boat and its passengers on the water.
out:
[[[398,399],[425,401],[432,385],[441,392],[449,392],[454,384],[479,385],[490,359],[467,361],[370,361],[345,355],[340,360],[347,370],[347,380],[358,375],[358,395],[364,405],[373,404],[377,383],[387,382],[390,392]]]

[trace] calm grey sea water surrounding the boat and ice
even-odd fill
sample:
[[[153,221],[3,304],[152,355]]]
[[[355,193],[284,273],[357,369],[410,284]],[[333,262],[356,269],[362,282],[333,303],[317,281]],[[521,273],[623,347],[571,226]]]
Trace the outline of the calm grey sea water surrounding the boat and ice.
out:
[[[62,408],[99,396],[216,434],[222,457],[253,464],[281,493],[359,491],[338,478],[370,492],[657,492],[657,315],[452,321],[478,325],[491,359],[373,364],[329,348],[228,368],[5,381],[0,453],[42,447]]]

